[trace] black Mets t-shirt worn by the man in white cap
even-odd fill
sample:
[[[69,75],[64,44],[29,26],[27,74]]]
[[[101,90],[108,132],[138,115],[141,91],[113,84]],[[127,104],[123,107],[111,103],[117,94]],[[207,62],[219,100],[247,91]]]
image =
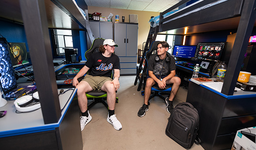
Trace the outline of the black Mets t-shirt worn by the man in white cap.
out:
[[[110,57],[105,57],[101,52],[93,53],[88,58],[85,65],[91,68],[90,75],[92,76],[107,76],[111,78],[113,69],[120,69],[119,57],[112,54]]]

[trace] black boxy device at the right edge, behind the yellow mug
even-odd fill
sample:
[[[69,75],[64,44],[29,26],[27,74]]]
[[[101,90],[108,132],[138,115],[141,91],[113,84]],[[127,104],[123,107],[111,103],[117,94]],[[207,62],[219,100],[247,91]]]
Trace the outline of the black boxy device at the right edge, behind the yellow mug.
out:
[[[241,71],[251,72],[256,75],[256,43],[249,43]]]

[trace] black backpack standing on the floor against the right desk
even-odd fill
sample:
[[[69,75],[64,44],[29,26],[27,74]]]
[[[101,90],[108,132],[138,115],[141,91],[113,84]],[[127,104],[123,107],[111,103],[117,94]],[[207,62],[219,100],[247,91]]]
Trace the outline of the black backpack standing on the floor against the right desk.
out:
[[[195,142],[198,129],[199,116],[196,108],[188,102],[176,105],[168,118],[166,135],[185,149],[189,149]]]

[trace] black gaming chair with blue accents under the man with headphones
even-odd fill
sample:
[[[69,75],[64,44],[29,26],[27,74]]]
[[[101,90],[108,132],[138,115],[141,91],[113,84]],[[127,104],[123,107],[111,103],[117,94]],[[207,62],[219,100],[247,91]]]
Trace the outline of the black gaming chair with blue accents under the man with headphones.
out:
[[[157,54],[157,45],[158,45],[159,42],[160,41],[153,41],[152,42],[150,49],[145,54],[146,61],[148,61],[151,56],[156,56],[156,54]],[[147,63],[147,65],[148,65],[148,63]],[[148,70],[147,70],[147,75],[148,75]],[[144,81],[144,83],[146,83],[146,81]],[[155,84],[154,86],[151,87],[151,96],[149,97],[148,100],[151,100],[151,98],[153,98],[155,96],[161,97],[163,100],[166,100],[166,97],[164,97],[163,94],[170,95],[171,90],[172,90],[172,84],[166,84],[165,89],[160,89],[158,84]],[[144,95],[144,91],[142,91],[141,94]]]

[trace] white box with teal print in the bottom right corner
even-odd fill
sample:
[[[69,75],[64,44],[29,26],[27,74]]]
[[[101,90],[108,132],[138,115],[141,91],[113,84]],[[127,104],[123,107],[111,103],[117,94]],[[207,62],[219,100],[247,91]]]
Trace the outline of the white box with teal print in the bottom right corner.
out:
[[[245,133],[243,133],[242,131],[244,131]],[[255,135],[255,134],[256,134],[256,127],[249,127],[242,130],[238,130],[231,150],[256,150],[256,143],[255,143],[256,141],[251,140],[253,139],[251,135]]]

